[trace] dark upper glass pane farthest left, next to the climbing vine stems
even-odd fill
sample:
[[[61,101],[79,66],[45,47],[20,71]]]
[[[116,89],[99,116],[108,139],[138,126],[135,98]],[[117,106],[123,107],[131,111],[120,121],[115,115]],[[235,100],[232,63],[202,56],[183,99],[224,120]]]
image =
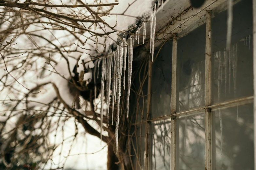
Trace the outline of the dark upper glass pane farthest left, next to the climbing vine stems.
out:
[[[155,51],[157,54],[158,51]],[[166,42],[160,49],[152,65],[152,118],[171,113],[172,86],[172,41]]]

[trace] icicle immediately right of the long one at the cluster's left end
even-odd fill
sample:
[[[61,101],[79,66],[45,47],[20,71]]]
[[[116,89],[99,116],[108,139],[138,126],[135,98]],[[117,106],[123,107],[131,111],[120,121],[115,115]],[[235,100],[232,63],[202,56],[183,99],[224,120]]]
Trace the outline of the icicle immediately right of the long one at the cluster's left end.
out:
[[[109,125],[109,107],[110,107],[110,87],[111,87],[112,55],[113,54],[109,54],[109,56],[108,56],[108,74],[106,75],[107,76],[107,104],[108,104],[107,117],[108,117],[108,125]]]

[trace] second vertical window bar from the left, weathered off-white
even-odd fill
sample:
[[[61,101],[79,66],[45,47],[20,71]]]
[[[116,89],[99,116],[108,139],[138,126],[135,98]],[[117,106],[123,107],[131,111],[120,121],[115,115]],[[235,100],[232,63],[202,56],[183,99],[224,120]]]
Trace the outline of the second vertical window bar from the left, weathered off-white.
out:
[[[171,115],[176,113],[176,85],[177,85],[177,38],[172,43],[172,90],[171,90]],[[171,170],[176,170],[176,117],[171,119]]]

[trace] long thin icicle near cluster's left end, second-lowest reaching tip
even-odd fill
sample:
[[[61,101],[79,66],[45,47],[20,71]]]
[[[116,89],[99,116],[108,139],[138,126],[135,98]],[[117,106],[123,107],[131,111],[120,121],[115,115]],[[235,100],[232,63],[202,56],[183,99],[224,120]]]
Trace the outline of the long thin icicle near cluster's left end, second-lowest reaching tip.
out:
[[[103,57],[102,64],[101,64],[101,87],[100,87],[100,146],[102,141],[102,127],[103,127],[103,106],[104,106],[104,75],[105,75],[105,63],[106,58]]]

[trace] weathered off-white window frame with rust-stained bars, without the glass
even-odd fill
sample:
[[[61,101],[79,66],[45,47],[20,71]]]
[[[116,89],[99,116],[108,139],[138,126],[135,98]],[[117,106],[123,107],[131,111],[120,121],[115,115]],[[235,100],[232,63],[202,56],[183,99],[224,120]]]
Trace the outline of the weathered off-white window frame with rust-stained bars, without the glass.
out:
[[[234,0],[234,3],[240,2],[242,0]],[[180,116],[189,116],[193,115],[198,112],[204,112],[205,114],[205,169],[207,170],[213,170],[215,169],[215,129],[214,129],[214,123],[215,118],[214,114],[212,114],[212,111],[219,108],[227,108],[232,106],[241,106],[245,104],[252,104],[253,103],[253,117],[254,117],[254,155],[256,155],[256,100],[254,98],[256,97],[256,47],[253,47],[253,89],[254,94],[252,96],[243,97],[239,99],[233,99],[230,101],[221,102],[218,104],[212,104],[212,97],[211,97],[211,70],[212,70],[212,64],[211,64],[211,19],[212,19],[212,10],[226,10],[227,1],[226,0],[206,0],[205,6],[200,9],[196,9],[193,13],[187,12],[185,13],[182,18],[184,19],[182,23],[175,23],[167,28],[166,32],[169,33],[178,33],[178,36],[173,36],[173,45],[172,45],[172,85],[171,85],[171,113],[167,116],[162,116],[154,119],[150,119],[147,121],[147,129],[146,129],[146,153],[148,153],[148,157],[145,160],[145,169],[152,169],[152,153],[151,153],[151,147],[150,147],[150,140],[149,138],[152,138],[150,135],[150,123],[159,121],[159,120],[171,120],[171,170],[176,170],[176,159],[179,158],[179,155],[177,154],[177,134],[176,134],[176,128],[177,128],[177,118]],[[206,17],[206,47],[205,47],[205,106],[195,109],[190,109],[186,111],[181,111],[176,113],[176,101],[177,101],[177,39],[188,32],[186,32],[185,28],[188,28],[189,26],[193,25],[193,23],[198,21],[198,18],[200,16]],[[200,18],[201,19],[201,18]],[[184,24],[185,23],[185,24]],[[179,28],[179,29],[178,29]],[[178,31],[177,31],[178,29]],[[179,31],[184,30],[184,31]],[[190,30],[191,31],[191,30]],[[190,32],[189,31],[189,32]],[[160,37],[165,37],[165,34],[161,34]],[[253,0],[253,46],[256,44],[256,0]],[[151,99],[151,66],[152,62],[148,61],[150,68],[149,74],[148,74],[148,99],[150,101]],[[150,112],[150,102],[147,106],[147,113]],[[254,169],[256,170],[256,156],[254,156]]]

